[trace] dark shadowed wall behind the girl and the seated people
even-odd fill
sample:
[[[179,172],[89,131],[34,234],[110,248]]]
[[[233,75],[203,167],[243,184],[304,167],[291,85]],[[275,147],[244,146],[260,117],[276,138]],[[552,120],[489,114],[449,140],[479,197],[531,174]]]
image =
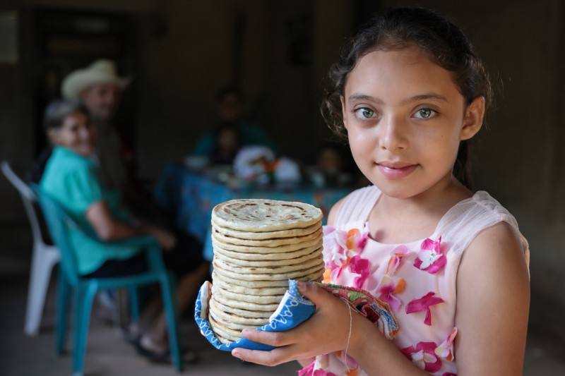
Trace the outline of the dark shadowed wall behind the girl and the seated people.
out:
[[[499,85],[489,129],[475,142],[475,183],[516,215],[530,241],[530,322],[547,327],[548,318],[559,320],[556,313],[565,306],[565,6],[559,0],[417,3],[453,16]],[[49,5],[133,14],[139,28],[137,92],[126,95],[135,96],[138,109],[139,174],[151,178],[163,163],[188,154],[197,135],[213,125],[215,92],[232,80],[239,80],[246,94],[249,118],[280,142],[283,153],[311,159],[329,135],[318,114],[320,82],[350,33],[352,4],[8,0],[0,10]],[[0,66],[0,159],[23,165],[32,161],[35,142],[29,22],[21,20],[20,64]],[[239,40],[238,22],[244,25]],[[304,32],[304,25],[313,29]],[[307,63],[290,63],[289,40],[301,35],[309,38],[314,54]],[[15,190],[0,178],[0,224],[24,219]]]

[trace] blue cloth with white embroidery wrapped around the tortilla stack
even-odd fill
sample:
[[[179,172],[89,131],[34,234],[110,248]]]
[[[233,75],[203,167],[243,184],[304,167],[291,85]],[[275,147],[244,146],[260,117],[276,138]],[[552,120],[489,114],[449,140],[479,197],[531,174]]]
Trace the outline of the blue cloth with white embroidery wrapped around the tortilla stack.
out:
[[[283,300],[280,301],[277,310],[275,310],[273,315],[270,315],[269,323],[258,328],[258,330],[283,332],[296,327],[314,314],[316,306],[311,301],[300,296],[296,281],[289,279],[288,285],[288,291],[285,293]],[[262,351],[272,350],[274,346],[259,344],[246,338],[239,339],[239,341],[231,342],[230,344],[222,344],[222,342],[214,336],[214,332],[208,323],[208,301],[210,300],[211,286],[209,281],[205,281],[201,286],[198,292],[198,298],[196,299],[196,308],[194,309],[196,323],[198,327],[200,327],[202,335],[208,339],[208,342],[222,351],[232,351],[232,349],[236,347]]]

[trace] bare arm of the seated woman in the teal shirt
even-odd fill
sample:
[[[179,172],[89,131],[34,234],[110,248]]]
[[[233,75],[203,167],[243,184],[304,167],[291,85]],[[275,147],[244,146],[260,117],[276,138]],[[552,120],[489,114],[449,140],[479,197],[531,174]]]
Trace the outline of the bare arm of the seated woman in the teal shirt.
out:
[[[103,241],[112,241],[132,236],[153,235],[161,247],[168,250],[174,247],[176,239],[169,231],[153,225],[143,225],[132,227],[124,222],[120,222],[112,216],[108,205],[104,201],[97,201],[90,205],[85,214],[88,222],[93,226],[97,236]]]

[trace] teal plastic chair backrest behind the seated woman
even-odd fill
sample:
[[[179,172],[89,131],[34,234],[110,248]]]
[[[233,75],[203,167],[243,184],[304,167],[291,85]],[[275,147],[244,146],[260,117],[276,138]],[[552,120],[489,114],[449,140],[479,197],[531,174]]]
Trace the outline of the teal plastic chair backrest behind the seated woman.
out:
[[[69,229],[78,228],[76,222],[73,221],[61,206],[53,200],[49,194],[45,193],[37,184],[31,183],[30,188],[33,190],[43,212],[45,222],[49,234],[61,251],[61,267],[71,284],[77,284],[79,279],[76,257],[73,253],[73,245],[69,236]]]

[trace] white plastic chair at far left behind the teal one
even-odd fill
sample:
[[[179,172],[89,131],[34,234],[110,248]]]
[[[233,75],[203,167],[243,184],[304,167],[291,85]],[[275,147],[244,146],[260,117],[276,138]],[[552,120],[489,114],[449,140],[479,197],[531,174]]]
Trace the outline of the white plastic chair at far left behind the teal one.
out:
[[[23,332],[28,336],[37,336],[40,331],[41,317],[47,296],[47,287],[51,272],[61,257],[59,248],[48,245],[43,241],[39,215],[34,207],[37,196],[30,187],[14,173],[8,161],[2,161],[0,168],[8,181],[20,193],[25,212],[30,220],[33,235],[33,253],[31,260],[30,285],[28,287],[28,306],[25,310],[25,327]]]

